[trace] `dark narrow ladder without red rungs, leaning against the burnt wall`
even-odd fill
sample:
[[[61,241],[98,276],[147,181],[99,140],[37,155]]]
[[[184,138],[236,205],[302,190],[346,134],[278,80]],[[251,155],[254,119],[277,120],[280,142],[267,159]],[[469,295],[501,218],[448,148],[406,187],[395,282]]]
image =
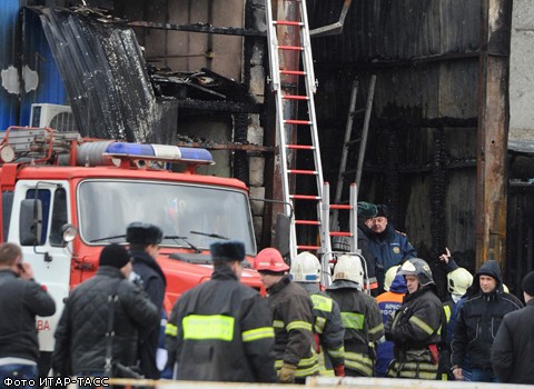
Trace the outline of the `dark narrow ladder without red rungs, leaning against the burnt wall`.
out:
[[[359,188],[359,181],[362,179],[362,170],[364,167],[364,157],[365,157],[365,148],[367,146],[367,133],[369,130],[369,121],[370,121],[370,110],[373,108],[373,98],[375,96],[375,83],[376,83],[376,76],[373,74],[369,80],[368,93],[367,93],[367,101],[365,108],[362,110],[356,110],[356,97],[358,94],[358,81],[355,80],[353,82],[353,89],[350,92],[350,102],[348,109],[348,117],[347,117],[347,124],[345,128],[345,137],[343,141],[343,150],[342,150],[342,158],[339,161],[339,171],[337,174],[337,183],[336,183],[336,193],[334,197],[335,203],[342,203],[342,193],[343,193],[343,183],[345,182],[345,177],[348,176],[350,172],[356,172],[355,182],[356,188]],[[357,113],[365,112],[364,117],[364,126],[362,129],[362,137],[353,139],[353,127],[354,127],[354,117]],[[356,170],[347,171],[347,158],[350,147],[354,144],[359,143],[359,151],[358,151],[358,163]],[[357,197],[356,191],[356,197]],[[350,197],[352,198],[352,197]],[[330,220],[330,229],[337,230],[338,229],[338,211],[335,209],[333,211],[332,220]]]

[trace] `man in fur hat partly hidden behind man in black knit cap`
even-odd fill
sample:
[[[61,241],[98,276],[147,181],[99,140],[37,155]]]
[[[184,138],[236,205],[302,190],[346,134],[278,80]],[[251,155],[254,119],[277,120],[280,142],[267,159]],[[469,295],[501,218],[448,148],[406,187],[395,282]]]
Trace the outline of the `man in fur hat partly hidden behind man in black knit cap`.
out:
[[[140,278],[140,283],[158,308],[160,318],[162,318],[166,279],[157,258],[162,238],[161,229],[149,223],[132,222],[126,230],[126,240],[130,243],[134,272],[137,275],[135,277]],[[158,379],[160,376],[157,366],[157,349],[162,331],[165,331],[165,327],[162,329],[161,325],[157,323],[141,329],[139,333],[139,360],[146,378]],[[165,359],[165,357],[162,358]]]

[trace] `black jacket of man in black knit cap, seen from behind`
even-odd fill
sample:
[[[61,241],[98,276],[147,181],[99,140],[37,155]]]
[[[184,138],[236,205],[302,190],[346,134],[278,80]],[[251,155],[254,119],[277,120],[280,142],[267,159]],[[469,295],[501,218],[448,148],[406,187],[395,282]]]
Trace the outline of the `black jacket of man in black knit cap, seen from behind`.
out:
[[[136,363],[138,328],[159,323],[158,309],[119,269],[101,266],[95,277],[76,287],[67,299],[55,335],[55,371],[63,376],[103,372],[111,307],[108,298],[113,293],[119,297],[115,303],[113,361],[125,366]]]

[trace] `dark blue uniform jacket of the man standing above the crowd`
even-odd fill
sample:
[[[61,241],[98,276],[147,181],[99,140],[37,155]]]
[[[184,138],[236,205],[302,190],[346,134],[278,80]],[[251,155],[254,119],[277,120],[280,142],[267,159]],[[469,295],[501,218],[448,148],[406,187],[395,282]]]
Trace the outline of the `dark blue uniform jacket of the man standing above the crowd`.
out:
[[[417,257],[417,251],[408,241],[406,233],[396,231],[393,225],[387,225],[382,233],[373,233],[369,242],[376,258],[376,278],[380,292],[384,290],[384,277],[392,266],[400,265],[406,259]]]

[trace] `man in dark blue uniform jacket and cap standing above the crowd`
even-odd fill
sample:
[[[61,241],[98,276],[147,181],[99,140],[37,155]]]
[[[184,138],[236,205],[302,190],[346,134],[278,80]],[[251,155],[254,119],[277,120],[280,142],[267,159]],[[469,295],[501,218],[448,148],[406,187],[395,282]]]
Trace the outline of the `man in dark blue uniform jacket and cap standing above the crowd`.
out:
[[[385,272],[393,266],[403,265],[409,258],[416,258],[417,251],[408,241],[406,233],[395,230],[388,222],[387,206],[376,206],[377,213],[373,218],[370,249],[377,259],[376,276],[378,289],[384,291]]]

